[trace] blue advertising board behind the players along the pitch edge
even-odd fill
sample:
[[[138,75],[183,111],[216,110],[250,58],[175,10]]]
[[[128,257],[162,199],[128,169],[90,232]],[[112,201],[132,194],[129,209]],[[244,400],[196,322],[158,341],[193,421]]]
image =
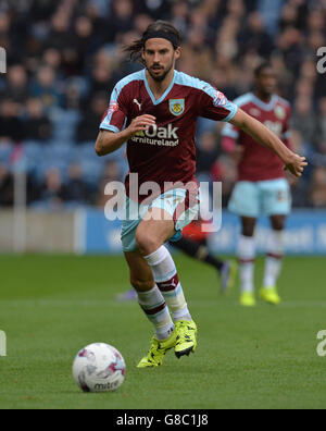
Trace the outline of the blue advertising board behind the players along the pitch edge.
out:
[[[83,241],[86,254],[122,253],[120,221],[108,221],[101,210],[90,210],[85,214]],[[239,218],[225,211],[222,230],[210,238],[212,251],[234,255],[240,232]],[[258,251],[264,253],[269,221],[259,220],[255,239]],[[287,220],[285,248],[289,255],[325,255],[326,256],[326,211],[296,210]]]

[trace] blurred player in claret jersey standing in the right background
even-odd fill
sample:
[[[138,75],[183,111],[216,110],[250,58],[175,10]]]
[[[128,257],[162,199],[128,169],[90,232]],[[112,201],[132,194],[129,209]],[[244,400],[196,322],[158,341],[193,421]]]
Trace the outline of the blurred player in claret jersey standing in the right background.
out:
[[[275,94],[276,75],[269,63],[255,70],[255,89],[235,100],[248,114],[273,131],[289,147],[289,103]],[[290,212],[290,186],[284,163],[267,148],[258,147],[254,139],[236,125],[223,130],[222,145],[226,151],[239,157],[238,182],[229,200],[229,210],[241,218],[242,232],[238,244],[242,306],[254,306],[254,229],[261,216],[271,218],[272,230],[267,238],[265,274],[260,291],[261,299],[277,305],[277,279],[284,255],[284,229]]]

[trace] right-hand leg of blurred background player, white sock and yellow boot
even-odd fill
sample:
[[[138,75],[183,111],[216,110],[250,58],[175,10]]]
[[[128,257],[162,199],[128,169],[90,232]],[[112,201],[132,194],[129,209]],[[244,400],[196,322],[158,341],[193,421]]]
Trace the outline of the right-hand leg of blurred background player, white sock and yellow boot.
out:
[[[267,244],[264,282],[260,296],[263,300],[273,305],[280,303],[277,292],[277,280],[284,257],[285,221],[286,216],[276,214],[271,217],[272,231]]]

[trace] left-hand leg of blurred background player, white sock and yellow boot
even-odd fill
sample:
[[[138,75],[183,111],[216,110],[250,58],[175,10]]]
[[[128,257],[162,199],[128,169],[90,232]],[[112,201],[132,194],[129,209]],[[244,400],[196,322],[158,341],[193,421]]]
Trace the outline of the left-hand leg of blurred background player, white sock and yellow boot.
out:
[[[255,243],[254,230],[256,219],[242,217],[242,233],[238,244],[238,260],[240,274],[240,304],[244,307],[255,306],[254,298],[254,260]]]

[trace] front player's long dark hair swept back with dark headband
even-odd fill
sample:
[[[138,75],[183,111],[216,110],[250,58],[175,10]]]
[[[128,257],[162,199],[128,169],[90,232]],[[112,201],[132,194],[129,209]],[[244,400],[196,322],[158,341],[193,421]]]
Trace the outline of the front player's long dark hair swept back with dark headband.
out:
[[[129,53],[130,61],[140,61],[141,63],[143,63],[141,59],[141,51],[145,47],[143,40],[150,33],[153,32],[163,32],[167,33],[170,36],[173,36],[173,39],[177,41],[177,44],[172,44],[174,49],[177,49],[181,45],[180,34],[174,25],[170,24],[167,21],[155,21],[147,27],[141,39],[135,40],[133,44],[127,45],[123,48],[124,52]]]

